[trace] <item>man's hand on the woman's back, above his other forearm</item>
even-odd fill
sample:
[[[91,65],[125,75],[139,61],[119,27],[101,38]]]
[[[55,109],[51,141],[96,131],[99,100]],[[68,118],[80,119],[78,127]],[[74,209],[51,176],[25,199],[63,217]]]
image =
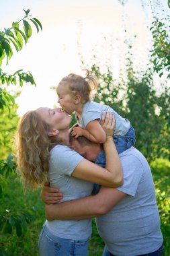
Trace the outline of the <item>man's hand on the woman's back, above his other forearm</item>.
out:
[[[46,181],[41,191],[41,199],[46,204],[51,203],[59,203],[60,199],[62,199],[62,193],[59,192],[58,189],[54,189],[50,187],[50,182]]]

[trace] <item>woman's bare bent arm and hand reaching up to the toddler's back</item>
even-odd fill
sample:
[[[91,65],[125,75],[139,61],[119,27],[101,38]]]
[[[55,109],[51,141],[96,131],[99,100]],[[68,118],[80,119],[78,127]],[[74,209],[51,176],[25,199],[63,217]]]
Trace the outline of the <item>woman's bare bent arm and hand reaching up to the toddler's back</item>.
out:
[[[123,184],[122,166],[112,138],[114,121],[112,113],[109,112],[105,118],[103,115],[101,117],[101,126],[107,137],[105,143],[103,143],[106,156],[105,168],[84,159],[73,171],[73,177],[105,187],[120,187]]]

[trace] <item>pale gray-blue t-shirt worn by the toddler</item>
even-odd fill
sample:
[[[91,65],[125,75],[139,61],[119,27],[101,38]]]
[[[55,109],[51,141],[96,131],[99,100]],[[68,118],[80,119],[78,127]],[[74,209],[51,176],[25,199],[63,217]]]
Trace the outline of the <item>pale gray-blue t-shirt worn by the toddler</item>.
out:
[[[110,108],[110,106],[102,105],[94,101],[88,101],[84,104],[81,118],[77,119],[77,123],[79,123],[80,127],[85,129],[89,122],[94,121],[95,119],[100,120],[102,113],[107,110],[110,110],[116,119],[114,135],[124,136],[130,128],[130,121],[118,115],[118,113]]]

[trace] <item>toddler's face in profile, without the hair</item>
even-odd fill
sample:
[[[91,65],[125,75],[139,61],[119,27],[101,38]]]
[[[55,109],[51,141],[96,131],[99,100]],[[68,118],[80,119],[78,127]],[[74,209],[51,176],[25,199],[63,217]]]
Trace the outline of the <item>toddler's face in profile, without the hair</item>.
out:
[[[58,94],[58,103],[60,106],[65,108],[65,111],[68,114],[71,114],[75,111],[74,98],[71,96],[71,92],[67,86],[59,85],[56,88],[56,93]]]

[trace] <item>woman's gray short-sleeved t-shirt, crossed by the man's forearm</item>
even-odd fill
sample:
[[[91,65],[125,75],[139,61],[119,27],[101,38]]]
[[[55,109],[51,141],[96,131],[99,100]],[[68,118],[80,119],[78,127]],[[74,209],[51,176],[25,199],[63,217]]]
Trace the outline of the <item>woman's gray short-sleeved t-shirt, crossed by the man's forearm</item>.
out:
[[[63,193],[60,201],[70,201],[91,195],[93,183],[71,177],[84,158],[67,146],[57,145],[50,152],[48,179],[51,187]],[[46,220],[52,234],[66,239],[85,239],[91,235],[91,220]]]

